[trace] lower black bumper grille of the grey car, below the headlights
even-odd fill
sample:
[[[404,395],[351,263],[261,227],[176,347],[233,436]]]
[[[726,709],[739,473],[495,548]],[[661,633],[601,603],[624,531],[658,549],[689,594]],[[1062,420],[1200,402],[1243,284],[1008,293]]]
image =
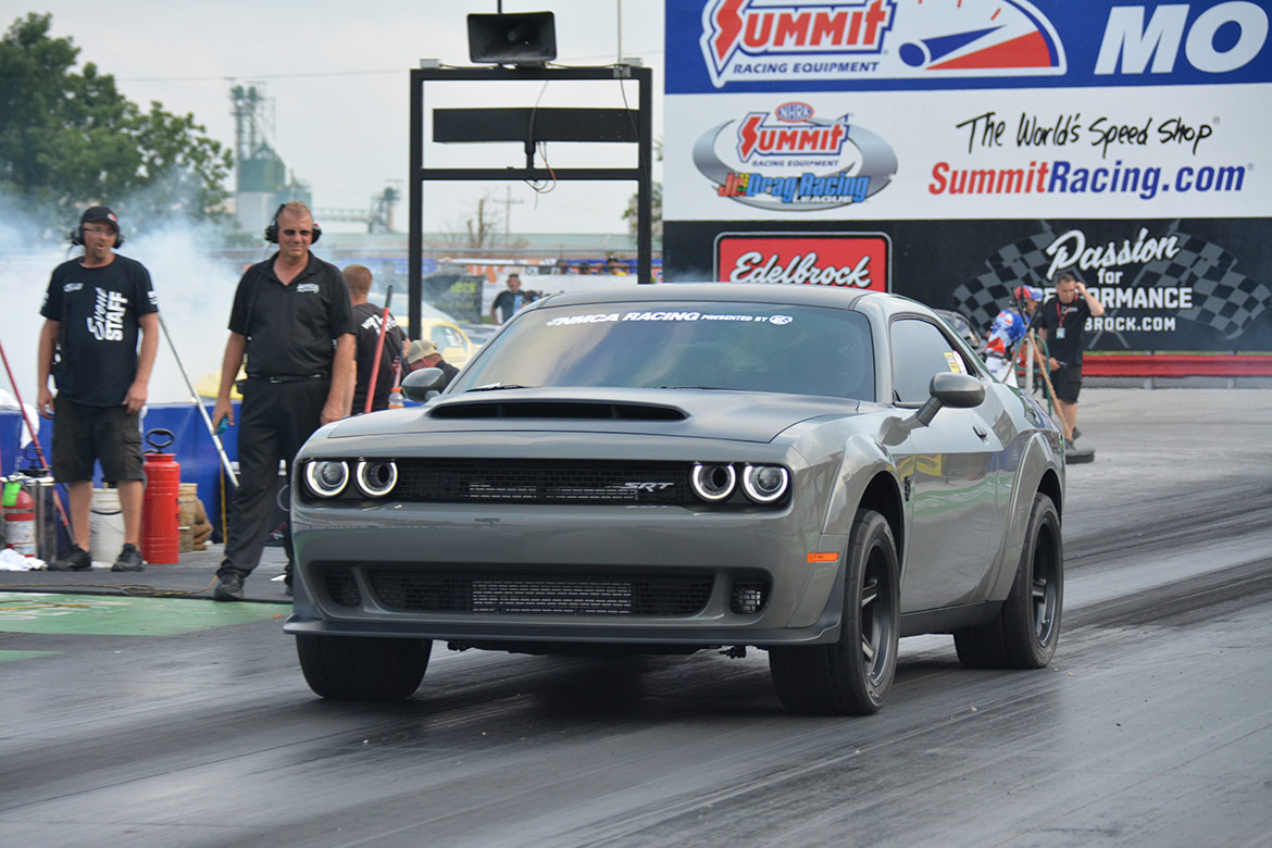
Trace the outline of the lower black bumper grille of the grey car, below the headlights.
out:
[[[380,605],[392,612],[505,615],[693,615],[714,584],[710,572],[370,572]]]

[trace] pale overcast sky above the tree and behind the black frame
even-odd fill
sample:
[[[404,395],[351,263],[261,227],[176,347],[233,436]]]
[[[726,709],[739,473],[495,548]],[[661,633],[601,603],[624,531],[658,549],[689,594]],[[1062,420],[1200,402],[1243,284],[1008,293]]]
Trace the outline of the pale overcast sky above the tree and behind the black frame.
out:
[[[663,0],[505,0],[505,13],[553,11],[557,62],[609,65],[639,56],[654,69],[654,133],[661,135]],[[28,11],[50,13],[52,36],[80,48],[79,69],[94,62],[130,100],[159,100],[193,113],[207,136],[234,146],[233,85],[263,86],[273,100],[275,149],[309,183],[321,210],[366,210],[373,195],[397,187],[404,230],[408,168],[408,70],[421,58],[471,65],[467,15],[495,13],[496,0],[308,0],[212,4],[158,0],[0,0],[8,29]],[[635,107],[637,90],[626,86]],[[623,104],[618,83],[509,86],[444,83],[425,88],[426,107]],[[556,167],[635,167],[635,145],[550,145]],[[520,145],[429,145],[426,167],[522,167]],[[656,165],[655,165],[656,168]],[[655,178],[658,178],[655,173]],[[454,231],[488,196],[509,212],[513,233],[623,233],[635,183],[558,184],[538,193],[519,182],[435,183],[425,195],[425,229]],[[506,201],[511,201],[508,203]],[[490,205],[488,205],[490,206]],[[328,231],[359,224],[322,221]],[[502,219],[500,219],[502,224]]]

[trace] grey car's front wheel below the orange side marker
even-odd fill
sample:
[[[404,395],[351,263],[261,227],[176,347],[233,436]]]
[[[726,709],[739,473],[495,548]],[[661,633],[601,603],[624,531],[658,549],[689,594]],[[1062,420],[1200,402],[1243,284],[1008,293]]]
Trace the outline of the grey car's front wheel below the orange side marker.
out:
[[[897,673],[901,566],[888,521],[859,510],[845,563],[843,620],[833,645],[773,647],[777,697],[795,712],[878,712]]]

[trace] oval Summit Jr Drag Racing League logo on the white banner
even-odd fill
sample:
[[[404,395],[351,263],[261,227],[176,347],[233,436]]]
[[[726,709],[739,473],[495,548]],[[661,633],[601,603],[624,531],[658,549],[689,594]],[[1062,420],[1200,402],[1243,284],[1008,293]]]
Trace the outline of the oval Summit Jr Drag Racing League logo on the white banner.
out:
[[[883,139],[847,114],[818,118],[798,100],[712,127],[693,145],[693,164],[717,196],[784,212],[860,203],[897,173]]]

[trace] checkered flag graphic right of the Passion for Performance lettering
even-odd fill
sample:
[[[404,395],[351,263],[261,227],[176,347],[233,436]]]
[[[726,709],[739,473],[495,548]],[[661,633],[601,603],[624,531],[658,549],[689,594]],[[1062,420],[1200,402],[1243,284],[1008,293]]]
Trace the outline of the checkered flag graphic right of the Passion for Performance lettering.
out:
[[[1191,286],[1193,306],[1179,310],[1179,317],[1211,327],[1225,338],[1240,336],[1272,303],[1272,290],[1233,271],[1236,257],[1217,244],[1186,233],[1174,235],[1182,242],[1179,252],[1145,264],[1135,285]]]

